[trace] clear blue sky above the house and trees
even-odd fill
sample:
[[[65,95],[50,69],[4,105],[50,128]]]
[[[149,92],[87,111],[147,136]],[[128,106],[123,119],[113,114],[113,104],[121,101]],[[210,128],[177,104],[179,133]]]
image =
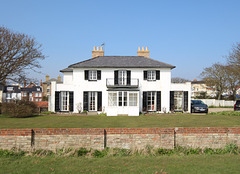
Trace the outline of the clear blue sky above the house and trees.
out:
[[[224,63],[240,42],[239,0],[0,0],[0,25],[26,33],[47,56],[41,74],[91,58],[103,42],[105,55],[150,57],[175,65],[172,77],[200,79],[205,67]]]

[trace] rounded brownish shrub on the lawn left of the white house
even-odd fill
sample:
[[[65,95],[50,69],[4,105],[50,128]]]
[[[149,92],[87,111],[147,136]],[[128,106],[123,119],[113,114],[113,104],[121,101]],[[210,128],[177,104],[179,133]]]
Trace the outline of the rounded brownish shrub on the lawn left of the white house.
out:
[[[24,118],[38,113],[38,109],[34,102],[17,100],[11,103],[3,103],[2,113],[9,117]]]

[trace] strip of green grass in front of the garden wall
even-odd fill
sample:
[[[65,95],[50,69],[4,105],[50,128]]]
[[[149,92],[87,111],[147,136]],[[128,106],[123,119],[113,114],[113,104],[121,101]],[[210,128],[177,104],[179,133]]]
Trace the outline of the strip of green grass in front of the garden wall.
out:
[[[240,156],[1,157],[0,173],[239,173]]]

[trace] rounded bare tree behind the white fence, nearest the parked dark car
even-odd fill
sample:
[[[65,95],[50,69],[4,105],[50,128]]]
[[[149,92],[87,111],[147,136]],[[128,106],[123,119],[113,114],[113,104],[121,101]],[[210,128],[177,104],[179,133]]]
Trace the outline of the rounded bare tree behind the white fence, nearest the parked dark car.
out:
[[[223,92],[227,89],[227,73],[225,66],[220,63],[215,63],[209,68],[204,68],[201,76],[207,86],[215,87],[218,100],[220,100]]]

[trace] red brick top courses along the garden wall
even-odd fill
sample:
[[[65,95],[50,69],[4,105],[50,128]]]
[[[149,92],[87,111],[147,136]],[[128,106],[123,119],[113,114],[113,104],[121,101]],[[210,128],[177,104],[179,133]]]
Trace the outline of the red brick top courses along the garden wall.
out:
[[[176,128],[36,128],[0,129],[0,136],[35,135],[103,135],[106,134],[240,134],[240,127],[176,127]]]

